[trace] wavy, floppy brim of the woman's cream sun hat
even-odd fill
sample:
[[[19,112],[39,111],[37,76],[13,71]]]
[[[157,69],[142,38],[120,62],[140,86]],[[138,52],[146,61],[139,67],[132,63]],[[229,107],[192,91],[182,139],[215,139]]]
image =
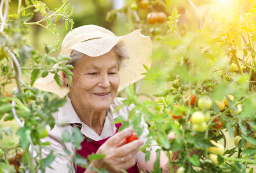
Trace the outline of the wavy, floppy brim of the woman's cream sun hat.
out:
[[[75,44],[61,52],[70,56],[72,50],[76,50],[89,57],[99,57],[107,54],[118,42],[122,42],[128,48],[129,59],[123,62],[125,67],[119,70],[120,85],[118,91],[120,91],[125,86],[129,86],[144,77],[141,75],[141,73],[146,72],[143,65],[151,66],[152,42],[150,37],[142,35],[140,31],[141,29],[137,29],[120,37],[87,40],[86,42]],[[42,91],[56,93],[56,95],[60,97],[65,97],[67,93],[70,92],[67,86],[61,87],[56,83],[54,74],[52,73],[36,80],[34,87]]]

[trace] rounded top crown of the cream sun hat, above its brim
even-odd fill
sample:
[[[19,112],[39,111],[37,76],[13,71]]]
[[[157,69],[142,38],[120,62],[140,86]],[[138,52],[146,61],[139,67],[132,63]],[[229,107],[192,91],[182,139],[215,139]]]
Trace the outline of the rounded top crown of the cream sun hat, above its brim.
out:
[[[116,35],[113,32],[103,27],[99,27],[97,25],[84,25],[72,29],[72,31],[68,32],[68,34],[65,36],[63,40],[61,48],[67,46],[67,44],[70,43],[72,40],[79,39],[79,37],[81,36],[83,36],[83,41],[94,39],[97,37],[116,37]]]

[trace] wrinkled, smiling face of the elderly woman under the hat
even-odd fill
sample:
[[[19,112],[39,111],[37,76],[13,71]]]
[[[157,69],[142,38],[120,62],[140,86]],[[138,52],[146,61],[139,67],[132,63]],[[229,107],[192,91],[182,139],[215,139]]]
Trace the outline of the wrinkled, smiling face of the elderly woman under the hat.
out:
[[[109,108],[118,92],[119,67],[114,50],[100,57],[88,57],[73,70],[70,97],[73,106],[91,111]]]

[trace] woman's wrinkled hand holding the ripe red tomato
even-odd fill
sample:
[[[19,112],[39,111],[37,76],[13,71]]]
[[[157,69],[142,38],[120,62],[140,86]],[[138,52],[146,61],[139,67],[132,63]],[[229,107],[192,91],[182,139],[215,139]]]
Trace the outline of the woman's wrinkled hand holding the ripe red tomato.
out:
[[[133,129],[126,128],[110,137],[98,148],[96,154],[105,155],[103,159],[94,160],[90,167],[104,168],[109,172],[122,172],[136,164],[136,153],[143,141],[135,140],[126,144],[125,139],[133,134]]]

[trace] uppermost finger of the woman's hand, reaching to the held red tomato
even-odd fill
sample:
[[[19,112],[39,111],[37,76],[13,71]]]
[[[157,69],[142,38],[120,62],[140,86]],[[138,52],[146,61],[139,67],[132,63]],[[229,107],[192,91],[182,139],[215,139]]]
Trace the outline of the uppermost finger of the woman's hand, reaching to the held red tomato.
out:
[[[131,136],[133,134],[133,129],[130,127],[127,127],[126,129],[123,129],[122,131],[114,134],[112,137],[110,137],[106,142],[105,145],[108,146],[119,146],[120,142],[122,140],[125,140],[125,138]]]

